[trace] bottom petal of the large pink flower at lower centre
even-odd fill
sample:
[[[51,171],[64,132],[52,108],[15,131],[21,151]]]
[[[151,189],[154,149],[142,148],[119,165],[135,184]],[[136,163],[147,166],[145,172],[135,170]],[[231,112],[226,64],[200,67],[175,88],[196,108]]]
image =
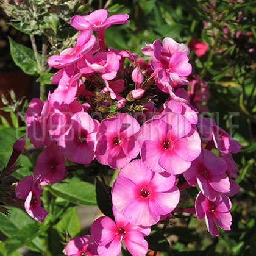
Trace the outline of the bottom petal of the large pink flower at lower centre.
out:
[[[124,211],[127,221],[134,225],[152,226],[156,224],[160,215],[151,212],[148,204],[148,197],[139,197],[137,200],[132,201]]]

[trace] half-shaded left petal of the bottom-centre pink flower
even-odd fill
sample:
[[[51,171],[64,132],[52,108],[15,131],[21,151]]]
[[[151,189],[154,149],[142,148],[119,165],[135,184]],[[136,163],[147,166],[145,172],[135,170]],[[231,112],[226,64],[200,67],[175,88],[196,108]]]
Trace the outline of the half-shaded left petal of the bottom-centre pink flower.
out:
[[[91,235],[99,246],[105,246],[116,237],[116,224],[108,216],[97,218],[91,225]]]

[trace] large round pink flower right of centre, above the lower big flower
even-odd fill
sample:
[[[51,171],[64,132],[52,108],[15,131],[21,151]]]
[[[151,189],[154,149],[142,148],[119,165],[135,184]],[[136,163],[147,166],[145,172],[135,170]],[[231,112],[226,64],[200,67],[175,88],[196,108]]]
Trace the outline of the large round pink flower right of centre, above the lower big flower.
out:
[[[144,165],[155,172],[181,174],[201,152],[199,134],[187,118],[177,113],[144,123],[138,141]]]

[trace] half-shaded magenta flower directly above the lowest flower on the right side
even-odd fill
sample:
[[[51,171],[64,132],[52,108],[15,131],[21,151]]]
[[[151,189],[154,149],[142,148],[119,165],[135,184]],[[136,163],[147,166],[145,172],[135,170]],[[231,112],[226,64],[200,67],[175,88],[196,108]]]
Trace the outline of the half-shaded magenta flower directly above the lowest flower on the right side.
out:
[[[230,191],[230,182],[226,174],[226,162],[213,152],[202,149],[199,157],[191,163],[183,176],[191,186],[197,183],[204,196],[215,201],[218,192]]]

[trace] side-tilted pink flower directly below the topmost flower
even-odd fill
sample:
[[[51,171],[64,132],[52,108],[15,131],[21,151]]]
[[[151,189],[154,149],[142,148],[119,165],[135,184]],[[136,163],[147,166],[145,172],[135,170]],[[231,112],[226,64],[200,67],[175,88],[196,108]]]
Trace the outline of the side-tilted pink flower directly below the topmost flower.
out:
[[[77,44],[73,48],[68,48],[60,52],[60,55],[52,55],[49,57],[48,65],[54,68],[65,68],[65,66],[80,60],[85,53],[98,51],[99,48],[97,49],[95,44],[96,38],[92,30],[80,32],[77,38]],[[91,49],[93,49],[93,51],[91,51]]]

